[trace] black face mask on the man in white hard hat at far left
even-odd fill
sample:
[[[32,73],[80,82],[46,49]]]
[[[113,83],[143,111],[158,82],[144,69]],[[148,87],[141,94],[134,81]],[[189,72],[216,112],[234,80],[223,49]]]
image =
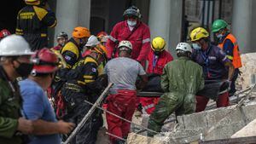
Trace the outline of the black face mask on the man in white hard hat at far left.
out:
[[[16,72],[20,75],[22,78],[27,78],[30,72],[32,71],[33,65],[30,63],[21,63],[18,61],[20,66],[16,67]]]

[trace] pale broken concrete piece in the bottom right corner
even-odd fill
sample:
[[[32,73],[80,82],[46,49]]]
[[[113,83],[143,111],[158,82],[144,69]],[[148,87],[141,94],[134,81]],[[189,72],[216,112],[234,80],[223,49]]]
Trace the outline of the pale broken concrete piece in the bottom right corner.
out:
[[[256,119],[237,131],[231,138],[256,136]]]

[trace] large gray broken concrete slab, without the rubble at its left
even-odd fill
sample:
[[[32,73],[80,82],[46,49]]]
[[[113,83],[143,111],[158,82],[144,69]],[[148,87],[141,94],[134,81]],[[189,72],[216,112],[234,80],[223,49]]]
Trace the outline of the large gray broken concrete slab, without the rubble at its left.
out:
[[[248,105],[241,108],[235,107],[223,107],[177,117],[177,121],[180,124],[179,130],[172,132],[172,135],[174,137],[177,137],[177,135],[190,137],[188,140],[188,138],[179,136],[178,139],[183,142],[194,141],[193,137],[195,135],[202,135],[203,139],[207,141],[230,138],[236,131],[256,118],[256,113],[253,112],[256,105]],[[200,137],[197,137],[197,139],[200,139]]]

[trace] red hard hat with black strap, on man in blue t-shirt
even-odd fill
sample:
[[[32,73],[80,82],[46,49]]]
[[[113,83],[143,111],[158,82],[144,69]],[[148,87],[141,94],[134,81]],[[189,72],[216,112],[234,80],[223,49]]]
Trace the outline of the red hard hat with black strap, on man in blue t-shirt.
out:
[[[52,73],[58,70],[58,56],[47,48],[40,49],[35,55],[32,55],[32,62],[34,64],[32,75]]]

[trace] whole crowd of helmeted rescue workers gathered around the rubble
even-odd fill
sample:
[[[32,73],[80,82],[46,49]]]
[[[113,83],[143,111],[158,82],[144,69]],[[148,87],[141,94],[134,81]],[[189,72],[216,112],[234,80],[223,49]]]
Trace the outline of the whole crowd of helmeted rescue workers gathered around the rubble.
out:
[[[17,16],[16,34],[0,32],[3,143],[61,144],[109,83],[113,86],[103,106],[113,144],[125,143],[131,124],[109,112],[129,121],[136,111],[148,113],[148,129],[160,132],[172,112],[178,116],[204,111],[209,99],[217,107],[228,107],[229,96],[236,92],[241,57],[224,20],[212,24],[217,46],[205,28],[197,27],[190,32],[189,43],[177,44],[174,60],[163,37],[150,40],[149,28],[135,6],[125,10],[125,20],[113,26],[109,36],[106,32],[94,36],[78,26],[70,38],[66,32],[58,34],[58,44],[48,49],[47,27],[56,25],[55,14],[44,0],[26,0],[26,4]],[[137,96],[137,90],[150,81],[148,74],[160,77],[164,94],[158,98]],[[218,82],[217,91],[222,87],[224,91],[214,96],[200,93],[208,82]],[[96,143],[102,124],[102,111],[97,109],[70,143]],[[148,136],[155,135],[153,131]]]

